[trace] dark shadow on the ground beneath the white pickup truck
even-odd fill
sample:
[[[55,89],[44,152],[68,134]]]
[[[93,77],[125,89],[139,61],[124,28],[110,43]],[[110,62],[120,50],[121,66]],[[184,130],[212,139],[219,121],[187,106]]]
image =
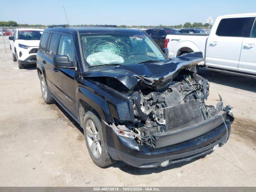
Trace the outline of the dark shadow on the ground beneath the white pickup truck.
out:
[[[222,84],[224,86],[238,88],[246,91],[256,92],[256,79],[254,78],[213,72],[206,68],[200,68],[198,74],[208,79],[209,82]]]

